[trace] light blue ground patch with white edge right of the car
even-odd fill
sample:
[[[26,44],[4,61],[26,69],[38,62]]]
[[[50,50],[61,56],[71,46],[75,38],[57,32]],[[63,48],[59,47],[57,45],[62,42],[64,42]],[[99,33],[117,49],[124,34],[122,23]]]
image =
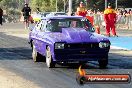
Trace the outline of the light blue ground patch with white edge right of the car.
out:
[[[109,37],[111,49],[132,50],[132,37]]]

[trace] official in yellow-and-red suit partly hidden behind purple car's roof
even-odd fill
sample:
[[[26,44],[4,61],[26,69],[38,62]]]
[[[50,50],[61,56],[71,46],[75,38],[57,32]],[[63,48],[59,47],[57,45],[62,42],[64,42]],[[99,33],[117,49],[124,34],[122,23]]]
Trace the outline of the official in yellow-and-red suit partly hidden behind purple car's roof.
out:
[[[80,2],[80,6],[77,8],[76,14],[78,16],[86,17],[87,10],[86,10],[83,2]]]

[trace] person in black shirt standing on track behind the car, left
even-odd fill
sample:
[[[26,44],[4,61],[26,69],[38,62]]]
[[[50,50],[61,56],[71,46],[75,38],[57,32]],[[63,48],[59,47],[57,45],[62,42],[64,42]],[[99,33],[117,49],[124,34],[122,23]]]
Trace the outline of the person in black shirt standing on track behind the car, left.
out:
[[[27,27],[29,27],[29,17],[31,15],[31,8],[28,6],[27,3],[25,3],[23,9],[22,9],[22,13],[24,16],[24,23],[25,23],[25,29]]]

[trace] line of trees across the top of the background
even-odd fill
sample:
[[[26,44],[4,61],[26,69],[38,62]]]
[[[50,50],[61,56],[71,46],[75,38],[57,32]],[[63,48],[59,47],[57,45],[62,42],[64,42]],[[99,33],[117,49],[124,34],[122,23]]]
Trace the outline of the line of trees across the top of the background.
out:
[[[57,1],[57,6],[56,6]],[[68,11],[68,1],[69,0],[29,0],[29,6],[32,8],[32,11],[36,11],[36,8],[39,8],[41,11],[50,12],[50,11]],[[83,1],[87,9],[100,9],[104,10],[105,0],[72,0],[73,1],[73,12],[76,11],[76,8],[79,6],[79,2]],[[113,8],[115,7],[115,0],[108,0],[112,4]],[[18,9],[19,11],[24,6],[24,0],[0,0],[0,7],[3,9]],[[131,7],[131,0],[118,0],[118,7]],[[57,7],[57,9],[56,9]]]

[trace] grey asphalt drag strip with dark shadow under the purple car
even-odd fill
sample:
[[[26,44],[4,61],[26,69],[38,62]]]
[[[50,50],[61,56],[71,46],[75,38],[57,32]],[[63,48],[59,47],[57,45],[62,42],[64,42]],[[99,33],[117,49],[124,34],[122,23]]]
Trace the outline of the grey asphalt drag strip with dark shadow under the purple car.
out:
[[[19,30],[17,30],[19,31]],[[7,88],[131,88],[130,84],[86,84],[80,86],[76,82],[79,66],[73,64],[60,65],[49,69],[45,62],[34,63],[31,57],[31,47],[28,44],[27,32],[20,34],[14,29],[0,33],[0,67],[8,71],[2,77],[12,78],[6,82]],[[88,62],[83,69],[87,74],[130,74],[132,75],[132,52],[131,50],[111,49],[109,53],[109,65],[107,69],[99,69],[97,62]],[[11,73],[10,73],[11,72]],[[17,77],[20,77],[17,79]],[[21,80],[22,79],[22,80]],[[15,80],[15,81],[14,81]],[[2,79],[0,79],[2,82]],[[20,82],[19,82],[20,81]],[[13,82],[22,85],[15,87]],[[6,84],[5,82],[3,82]],[[0,84],[1,87],[2,84]],[[14,85],[14,86],[13,86]],[[24,86],[27,85],[27,86]],[[31,85],[31,86],[30,86]],[[6,88],[6,87],[4,87]]]

